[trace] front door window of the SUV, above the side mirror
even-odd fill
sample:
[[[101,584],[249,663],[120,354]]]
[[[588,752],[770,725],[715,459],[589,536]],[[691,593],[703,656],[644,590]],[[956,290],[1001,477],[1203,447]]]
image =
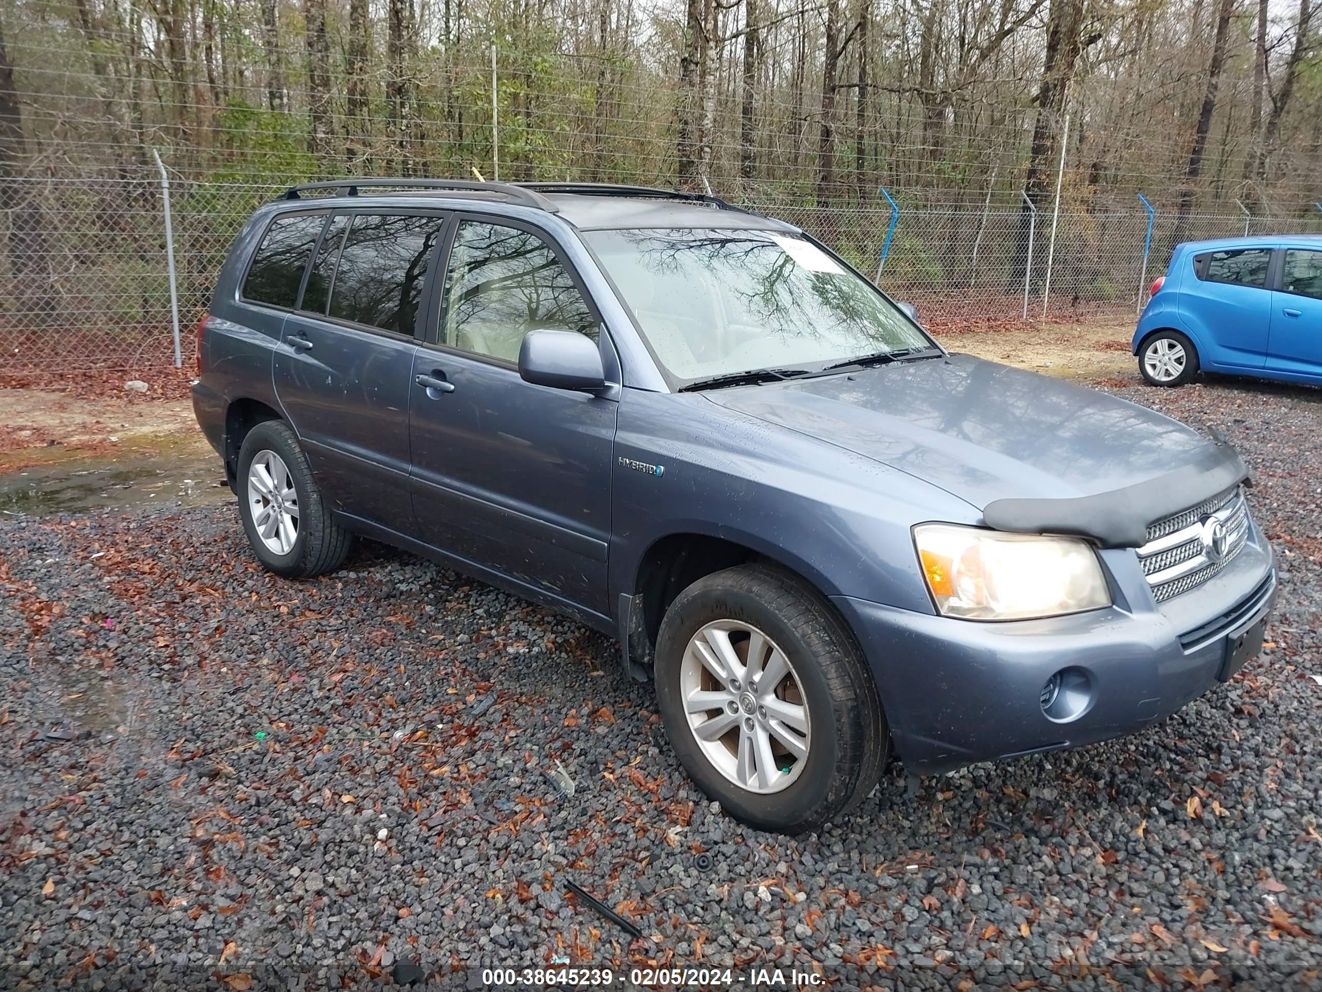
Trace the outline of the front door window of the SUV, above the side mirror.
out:
[[[440,343],[518,361],[529,331],[576,331],[598,340],[598,321],[568,270],[535,234],[481,221],[455,231]]]

